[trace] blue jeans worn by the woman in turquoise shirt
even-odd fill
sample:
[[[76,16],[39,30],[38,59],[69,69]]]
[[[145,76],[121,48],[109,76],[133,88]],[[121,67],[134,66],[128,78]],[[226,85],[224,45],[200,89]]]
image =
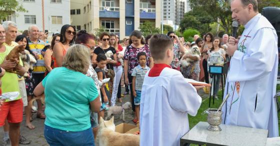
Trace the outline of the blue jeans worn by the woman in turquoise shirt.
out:
[[[69,132],[44,125],[44,138],[50,146],[95,146],[91,128]]]

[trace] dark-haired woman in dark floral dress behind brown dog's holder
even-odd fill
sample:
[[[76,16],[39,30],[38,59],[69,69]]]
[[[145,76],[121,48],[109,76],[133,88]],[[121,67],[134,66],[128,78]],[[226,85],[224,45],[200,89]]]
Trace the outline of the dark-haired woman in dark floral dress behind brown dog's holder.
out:
[[[25,50],[29,52],[29,54],[32,55],[32,57],[35,59],[35,55],[32,53],[32,51],[29,49],[27,37],[25,35],[18,35],[15,38],[15,42],[17,42],[19,45],[24,45]],[[26,54],[27,55],[27,54]],[[29,57],[29,56],[28,56]],[[30,56],[31,57],[31,56]],[[30,59],[29,59],[30,61]],[[25,112],[25,126],[32,130],[35,128],[34,125],[31,124],[32,117],[31,117],[31,106],[29,101],[32,99],[33,96],[33,90],[34,90],[34,85],[35,85],[35,79],[32,76],[32,70],[29,68],[28,70],[28,76],[24,77],[25,80],[25,88],[26,88],[26,94],[27,94],[27,101],[28,101],[28,106],[24,107],[24,112]]]

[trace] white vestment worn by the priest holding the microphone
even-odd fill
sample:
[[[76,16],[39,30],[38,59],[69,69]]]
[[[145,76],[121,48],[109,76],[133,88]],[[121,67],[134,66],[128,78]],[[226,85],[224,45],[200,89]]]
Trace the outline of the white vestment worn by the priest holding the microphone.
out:
[[[276,92],[278,68],[277,34],[261,14],[251,18],[238,42],[222,107],[223,124],[267,129],[269,137],[278,137]]]

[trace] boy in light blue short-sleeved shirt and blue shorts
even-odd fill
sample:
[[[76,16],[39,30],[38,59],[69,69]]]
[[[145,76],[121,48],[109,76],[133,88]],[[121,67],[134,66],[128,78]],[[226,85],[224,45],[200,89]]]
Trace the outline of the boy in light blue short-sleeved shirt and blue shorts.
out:
[[[147,71],[149,71],[149,67],[146,66],[146,58],[147,55],[145,52],[139,52],[137,54],[138,66],[134,67],[132,71],[132,91],[134,96],[134,105],[135,105],[135,114],[137,118],[137,123],[139,123],[139,114],[140,114],[140,98],[141,98],[141,90],[142,84],[144,81],[144,77]]]

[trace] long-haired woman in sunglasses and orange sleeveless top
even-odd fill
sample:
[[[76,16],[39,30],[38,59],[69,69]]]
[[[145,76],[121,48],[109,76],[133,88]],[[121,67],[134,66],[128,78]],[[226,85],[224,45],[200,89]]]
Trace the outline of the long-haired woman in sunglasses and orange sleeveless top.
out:
[[[53,46],[53,61],[54,67],[60,67],[62,65],[63,56],[69,46],[74,42],[76,36],[76,29],[69,24],[65,24],[61,27],[60,40]]]

